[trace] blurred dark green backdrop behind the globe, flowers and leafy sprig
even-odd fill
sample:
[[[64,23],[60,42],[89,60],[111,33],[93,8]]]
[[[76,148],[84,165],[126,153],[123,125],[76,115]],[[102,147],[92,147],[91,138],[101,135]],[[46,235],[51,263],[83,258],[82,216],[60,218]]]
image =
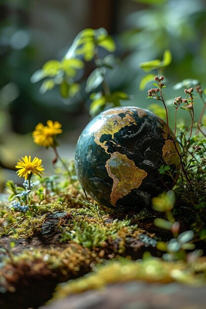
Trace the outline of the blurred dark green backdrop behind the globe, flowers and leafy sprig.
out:
[[[65,98],[64,91],[60,91],[61,96],[56,87],[43,91],[42,95],[41,83],[31,83],[30,79],[46,62],[55,59],[60,63],[78,33],[85,28],[106,29],[109,38],[112,36],[115,41],[116,50],[100,48],[98,57],[104,59],[108,51],[114,51],[120,60],[105,73],[110,92],[126,94],[119,98],[124,99],[122,105],[148,108],[151,101],[146,97],[151,78],[141,81],[162,70],[170,85],[191,78],[200,80],[203,89],[206,88],[205,13],[205,0],[1,0],[0,186],[8,178],[17,182],[10,170],[16,157],[25,151],[31,154],[38,151],[42,159],[47,158],[47,152],[33,144],[31,132],[37,123],[45,123],[48,118],[62,123],[61,155],[73,158],[78,136],[89,120],[91,100],[95,99],[88,81],[88,91],[84,91],[95,62],[86,62],[84,70],[81,62],[75,67],[78,69],[75,78],[82,87],[70,99]],[[97,85],[97,94],[103,87],[102,83]],[[178,89],[165,88],[165,93],[173,102]],[[110,98],[115,100],[117,97]],[[167,104],[172,102],[168,100]],[[198,117],[202,103],[197,102]],[[161,112],[158,104],[152,109]],[[183,121],[186,113],[182,112]],[[46,161],[43,163],[49,173],[51,160]]]

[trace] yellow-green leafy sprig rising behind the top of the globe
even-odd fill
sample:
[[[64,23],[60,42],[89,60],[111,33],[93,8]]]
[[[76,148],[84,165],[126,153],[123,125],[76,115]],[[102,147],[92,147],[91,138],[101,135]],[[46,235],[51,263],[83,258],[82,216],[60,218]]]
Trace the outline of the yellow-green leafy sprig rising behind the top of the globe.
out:
[[[104,49],[110,54],[100,58],[99,50]],[[128,100],[129,96],[123,91],[111,92],[107,76],[118,60],[113,55],[116,49],[114,39],[104,28],[84,29],[74,39],[72,46],[61,61],[49,60],[41,70],[31,77],[32,82],[44,79],[40,91],[45,93],[55,85],[64,100],[71,99],[80,92],[77,83],[78,70],[84,67],[84,61],[94,64],[94,70],[88,76],[85,91],[90,93],[90,116],[95,116],[109,107],[121,105],[121,100]]]

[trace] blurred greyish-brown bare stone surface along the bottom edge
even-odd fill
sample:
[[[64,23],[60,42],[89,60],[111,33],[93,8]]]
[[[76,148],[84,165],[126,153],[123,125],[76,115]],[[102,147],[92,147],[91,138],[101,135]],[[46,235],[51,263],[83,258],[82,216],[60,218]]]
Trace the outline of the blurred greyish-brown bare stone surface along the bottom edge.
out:
[[[205,309],[206,286],[132,281],[71,295],[40,309]]]

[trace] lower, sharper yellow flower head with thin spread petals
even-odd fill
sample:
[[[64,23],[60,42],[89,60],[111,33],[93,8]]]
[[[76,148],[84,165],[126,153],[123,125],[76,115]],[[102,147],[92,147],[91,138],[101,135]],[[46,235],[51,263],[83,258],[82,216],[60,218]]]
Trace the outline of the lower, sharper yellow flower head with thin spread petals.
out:
[[[25,157],[22,157],[22,161],[19,160],[19,162],[17,162],[17,165],[15,166],[19,169],[17,171],[18,176],[24,177],[25,180],[28,179],[29,175],[32,176],[32,174],[41,177],[41,174],[43,174],[42,171],[44,170],[43,165],[41,165],[41,161],[42,160],[38,157],[35,157],[33,161],[31,161],[31,155],[29,155],[29,157],[25,155]]]

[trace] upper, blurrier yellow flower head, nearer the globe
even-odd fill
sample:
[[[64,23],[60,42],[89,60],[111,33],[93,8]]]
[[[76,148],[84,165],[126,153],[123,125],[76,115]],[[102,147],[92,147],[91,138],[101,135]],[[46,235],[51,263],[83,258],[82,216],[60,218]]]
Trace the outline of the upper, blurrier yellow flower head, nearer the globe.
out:
[[[33,132],[34,142],[43,147],[55,147],[54,136],[62,133],[61,123],[58,121],[53,122],[52,120],[47,120],[47,125],[38,123]]]

